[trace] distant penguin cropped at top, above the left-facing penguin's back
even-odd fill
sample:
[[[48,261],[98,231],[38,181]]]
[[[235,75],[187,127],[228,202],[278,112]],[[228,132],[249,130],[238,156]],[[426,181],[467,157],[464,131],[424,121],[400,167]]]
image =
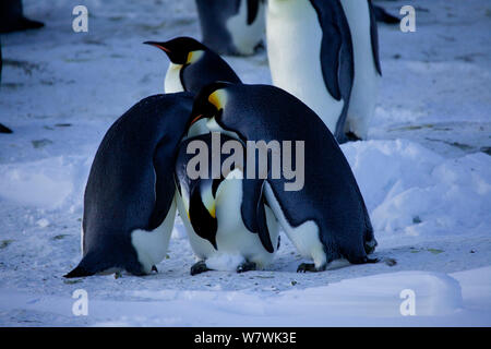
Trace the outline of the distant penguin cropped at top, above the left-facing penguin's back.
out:
[[[203,43],[220,55],[250,56],[264,36],[264,0],[196,0]]]

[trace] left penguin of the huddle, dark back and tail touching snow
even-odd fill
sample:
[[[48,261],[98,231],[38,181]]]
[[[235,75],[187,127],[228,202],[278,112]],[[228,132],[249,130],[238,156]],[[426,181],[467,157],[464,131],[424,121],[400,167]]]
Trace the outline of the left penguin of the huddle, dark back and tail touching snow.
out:
[[[189,93],[151,96],[107,131],[85,188],[82,261],[65,277],[156,270],[173,227],[173,164],[192,103]]]

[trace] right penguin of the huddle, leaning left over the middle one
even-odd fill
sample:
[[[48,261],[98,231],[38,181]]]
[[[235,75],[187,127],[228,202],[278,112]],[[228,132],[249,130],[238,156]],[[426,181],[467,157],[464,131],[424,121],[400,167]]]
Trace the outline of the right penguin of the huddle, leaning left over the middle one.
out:
[[[264,185],[279,225],[297,250],[313,261],[300,264],[298,272],[324,270],[340,257],[354,264],[378,262],[368,257],[376,241],[349,164],[306,104],[275,86],[215,83],[194,100],[191,124],[201,119],[211,131],[236,134],[242,142],[303,142],[304,154],[295,165],[304,170],[303,186],[287,190],[285,176],[268,176]]]

